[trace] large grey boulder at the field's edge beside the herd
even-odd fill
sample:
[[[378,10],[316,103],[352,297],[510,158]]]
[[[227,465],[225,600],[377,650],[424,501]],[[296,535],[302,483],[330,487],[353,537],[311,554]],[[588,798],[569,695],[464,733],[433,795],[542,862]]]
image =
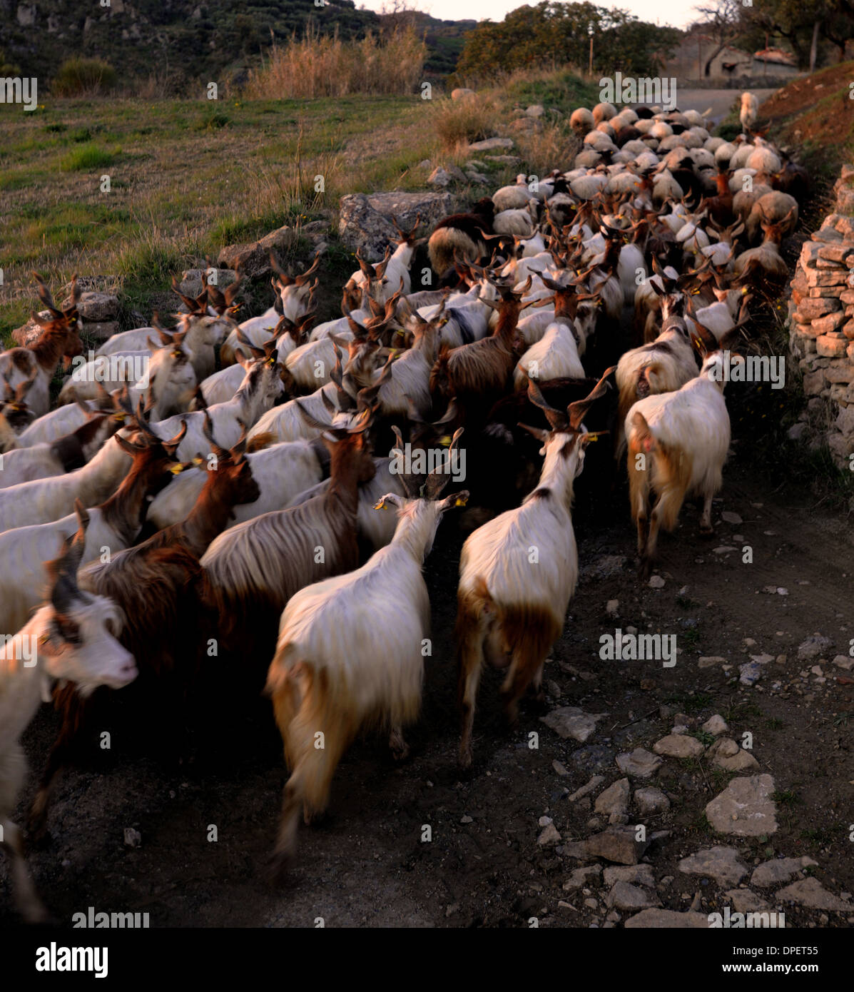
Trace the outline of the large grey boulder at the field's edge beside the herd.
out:
[[[449,192],[374,192],[342,196],[338,234],[351,250],[362,249],[369,262],[379,262],[386,248],[397,239],[392,216],[409,230],[421,214],[421,228],[430,230],[454,210]]]

